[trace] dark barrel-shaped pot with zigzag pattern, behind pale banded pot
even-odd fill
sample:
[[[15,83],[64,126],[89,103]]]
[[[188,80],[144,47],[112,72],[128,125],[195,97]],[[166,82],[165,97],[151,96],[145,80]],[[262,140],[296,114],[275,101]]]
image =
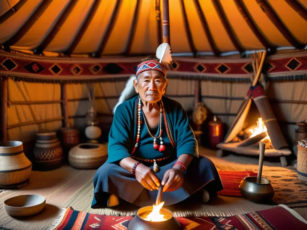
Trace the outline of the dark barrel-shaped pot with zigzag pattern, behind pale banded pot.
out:
[[[63,150],[55,132],[37,133],[33,169],[49,171],[61,167]]]

